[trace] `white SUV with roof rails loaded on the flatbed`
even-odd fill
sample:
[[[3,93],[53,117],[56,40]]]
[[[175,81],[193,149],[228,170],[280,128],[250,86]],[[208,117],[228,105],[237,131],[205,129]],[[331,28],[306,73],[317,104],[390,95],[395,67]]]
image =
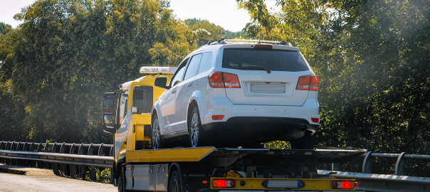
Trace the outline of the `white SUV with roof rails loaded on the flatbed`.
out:
[[[256,147],[288,140],[312,149],[318,78],[283,41],[221,39],[187,55],[152,109],[152,148],[167,142]]]

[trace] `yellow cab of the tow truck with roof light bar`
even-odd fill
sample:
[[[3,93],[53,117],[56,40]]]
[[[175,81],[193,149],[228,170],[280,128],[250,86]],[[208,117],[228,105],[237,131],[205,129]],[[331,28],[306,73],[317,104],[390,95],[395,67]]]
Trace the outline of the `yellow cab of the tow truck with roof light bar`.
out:
[[[114,134],[115,161],[127,150],[150,149],[152,104],[164,92],[154,86],[154,80],[170,80],[175,70],[171,67],[142,67],[140,73],[144,76],[122,83],[119,90],[103,95],[104,130]]]

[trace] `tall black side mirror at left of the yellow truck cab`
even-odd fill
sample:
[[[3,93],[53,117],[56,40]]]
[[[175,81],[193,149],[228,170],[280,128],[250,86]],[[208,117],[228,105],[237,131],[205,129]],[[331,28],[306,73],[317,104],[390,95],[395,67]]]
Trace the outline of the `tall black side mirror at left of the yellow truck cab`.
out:
[[[115,133],[115,108],[114,108],[114,100],[110,97],[110,94],[103,95],[103,130],[109,133]]]

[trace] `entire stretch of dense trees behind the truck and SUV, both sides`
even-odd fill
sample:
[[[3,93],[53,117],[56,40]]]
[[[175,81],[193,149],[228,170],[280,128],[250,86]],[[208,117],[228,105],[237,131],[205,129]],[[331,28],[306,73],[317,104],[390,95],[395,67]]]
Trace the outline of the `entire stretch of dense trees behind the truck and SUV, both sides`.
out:
[[[0,23],[0,140],[110,142],[100,96],[209,40],[298,46],[320,79],[323,146],[430,154],[427,1],[237,0],[243,32],[172,16],[163,0],[36,1]],[[246,33],[246,36],[245,34]]]

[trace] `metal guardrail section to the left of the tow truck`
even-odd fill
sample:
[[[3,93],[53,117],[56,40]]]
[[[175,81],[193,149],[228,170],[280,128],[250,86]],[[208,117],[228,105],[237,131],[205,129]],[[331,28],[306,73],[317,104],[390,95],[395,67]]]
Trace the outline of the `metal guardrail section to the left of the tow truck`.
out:
[[[0,160],[6,164],[54,169],[59,174],[81,178],[90,171],[91,180],[96,176],[89,166],[112,167],[112,153],[112,144],[0,142]]]

